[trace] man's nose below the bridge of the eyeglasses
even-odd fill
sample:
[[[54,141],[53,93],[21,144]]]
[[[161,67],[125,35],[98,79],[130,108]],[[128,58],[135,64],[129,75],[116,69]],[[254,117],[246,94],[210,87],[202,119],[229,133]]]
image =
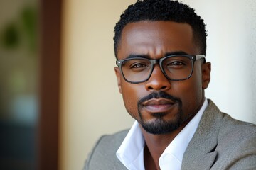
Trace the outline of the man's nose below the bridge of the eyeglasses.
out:
[[[171,88],[171,81],[161,71],[159,64],[154,65],[153,72],[149,80],[146,81],[145,88],[147,91],[167,91]]]

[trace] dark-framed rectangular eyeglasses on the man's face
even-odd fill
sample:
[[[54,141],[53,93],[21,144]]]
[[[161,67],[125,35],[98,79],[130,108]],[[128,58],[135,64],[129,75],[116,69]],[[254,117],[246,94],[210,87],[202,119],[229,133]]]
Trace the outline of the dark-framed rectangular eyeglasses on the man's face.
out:
[[[194,62],[205,57],[205,55],[169,55],[160,59],[133,57],[117,60],[116,64],[125,81],[132,84],[147,81],[151,77],[154,64],[160,65],[167,79],[181,81],[189,79],[193,73]]]

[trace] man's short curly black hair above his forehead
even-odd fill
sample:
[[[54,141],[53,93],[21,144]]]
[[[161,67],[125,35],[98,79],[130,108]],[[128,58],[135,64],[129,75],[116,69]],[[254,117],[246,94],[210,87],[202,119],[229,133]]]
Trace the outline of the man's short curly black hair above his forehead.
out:
[[[137,0],[122,13],[114,27],[114,55],[121,40],[122,30],[128,23],[139,21],[174,21],[188,23],[193,29],[193,40],[200,47],[201,55],[206,55],[206,24],[193,8],[171,0]]]

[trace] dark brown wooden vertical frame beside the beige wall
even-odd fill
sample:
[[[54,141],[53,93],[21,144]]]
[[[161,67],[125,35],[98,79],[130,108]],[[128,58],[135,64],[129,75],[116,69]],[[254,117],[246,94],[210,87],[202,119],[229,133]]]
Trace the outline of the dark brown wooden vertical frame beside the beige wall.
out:
[[[58,169],[62,0],[40,1],[38,169]]]

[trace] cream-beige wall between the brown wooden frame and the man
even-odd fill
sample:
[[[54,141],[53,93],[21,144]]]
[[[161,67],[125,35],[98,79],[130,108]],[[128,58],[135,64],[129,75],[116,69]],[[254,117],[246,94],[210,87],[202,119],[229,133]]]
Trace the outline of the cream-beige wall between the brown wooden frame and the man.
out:
[[[114,24],[132,2],[65,1],[60,169],[82,169],[100,135],[132,125],[117,90],[112,40]]]

